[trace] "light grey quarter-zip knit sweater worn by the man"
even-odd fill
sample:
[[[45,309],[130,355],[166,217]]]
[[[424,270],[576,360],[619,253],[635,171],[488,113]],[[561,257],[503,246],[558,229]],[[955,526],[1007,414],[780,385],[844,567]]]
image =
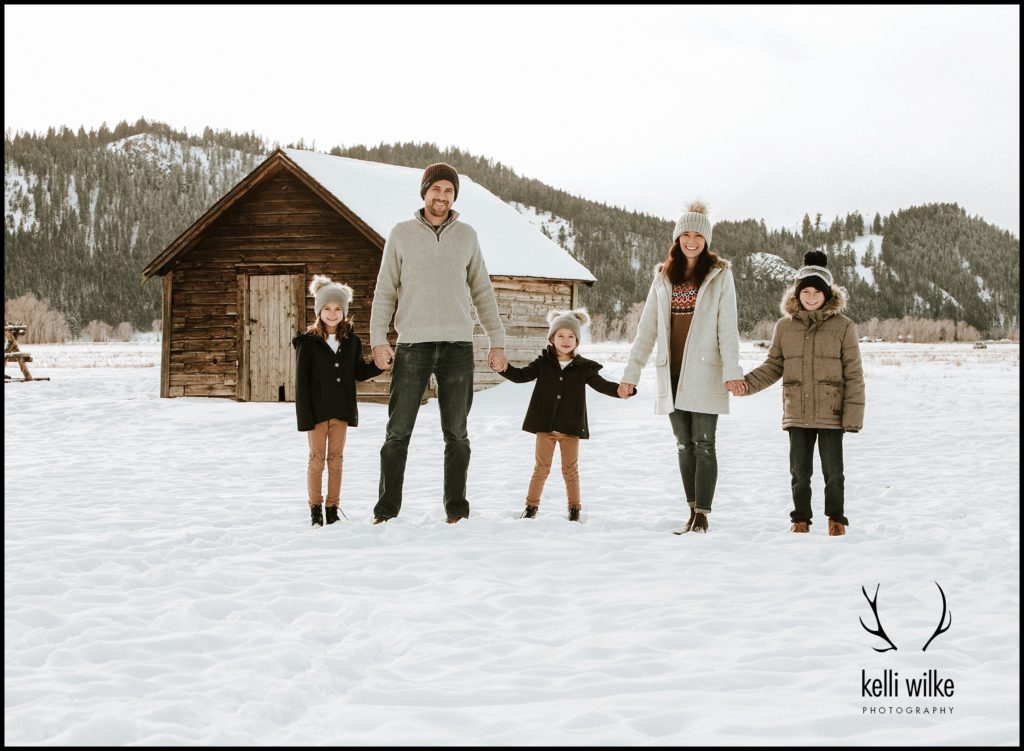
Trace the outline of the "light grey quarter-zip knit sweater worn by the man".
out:
[[[388,343],[392,315],[399,343],[473,341],[474,306],[490,346],[505,346],[476,231],[452,214],[439,232],[421,212],[391,231],[370,310],[372,347]]]

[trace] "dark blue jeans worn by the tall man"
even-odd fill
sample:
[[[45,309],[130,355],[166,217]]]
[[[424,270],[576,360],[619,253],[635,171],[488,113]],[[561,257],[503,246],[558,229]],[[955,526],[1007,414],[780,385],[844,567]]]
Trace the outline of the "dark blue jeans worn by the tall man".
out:
[[[395,347],[375,516],[391,518],[401,510],[409,440],[431,373],[437,378],[437,405],[444,434],[444,511],[447,516],[469,516],[466,421],[473,405],[473,369],[472,342],[428,341]]]

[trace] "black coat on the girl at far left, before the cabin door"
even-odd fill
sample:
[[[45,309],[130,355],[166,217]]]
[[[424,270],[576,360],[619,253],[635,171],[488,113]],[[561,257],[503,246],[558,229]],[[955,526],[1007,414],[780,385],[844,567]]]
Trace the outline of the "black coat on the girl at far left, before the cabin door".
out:
[[[350,333],[331,349],[327,340],[309,332],[292,339],[296,352],[295,416],[299,430],[312,430],[317,422],[344,420],[359,424],[355,406],[355,381],[365,381],[384,371],[362,362],[362,344]]]

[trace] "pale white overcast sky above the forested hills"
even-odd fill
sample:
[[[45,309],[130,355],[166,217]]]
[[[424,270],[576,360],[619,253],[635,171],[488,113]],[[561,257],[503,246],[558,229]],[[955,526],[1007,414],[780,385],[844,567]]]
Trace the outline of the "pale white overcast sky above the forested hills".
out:
[[[1017,5],[4,6],[4,126],[433,141],[584,198],[1020,234]]]

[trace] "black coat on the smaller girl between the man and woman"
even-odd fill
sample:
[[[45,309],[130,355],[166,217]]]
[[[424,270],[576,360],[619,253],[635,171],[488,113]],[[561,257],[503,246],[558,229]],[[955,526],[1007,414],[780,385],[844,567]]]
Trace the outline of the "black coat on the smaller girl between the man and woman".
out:
[[[502,373],[513,383],[537,380],[522,429],[526,432],[560,432],[590,437],[587,424],[587,386],[608,397],[618,397],[618,384],[598,374],[604,367],[579,354],[564,370],[555,348],[548,346],[529,365],[510,365]]]

